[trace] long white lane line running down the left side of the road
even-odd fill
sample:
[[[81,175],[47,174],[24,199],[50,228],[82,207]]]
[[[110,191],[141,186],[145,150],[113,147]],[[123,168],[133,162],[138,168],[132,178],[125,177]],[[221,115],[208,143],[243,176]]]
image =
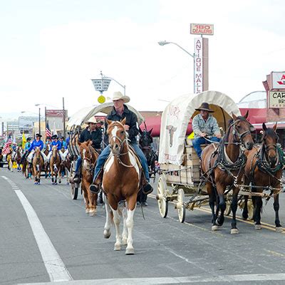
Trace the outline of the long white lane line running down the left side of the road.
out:
[[[2,177],[7,180],[10,185],[15,185],[15,183],[9,180],[9,178],[5,176]],[[31,225],[33,236],[38,244],[38,249],[41,252],[41,257],[43,258],[43,263],[46,266],[46,271],[48,271],[50,280],[52,282],[73,280],[71,274],[69,274],[66,266],[63,264],[61,257],[58,255],[58,252],[56,252],[56,249],[53,247],[51,239],[49,239],[48,234],[46,234],[46,231],[43,229],[43,225],[38,219],[35,210],[28,202],[28,199],[26,199],[21,190],[15,190],[15,193],[24,207],[28,217],[28,222]]]

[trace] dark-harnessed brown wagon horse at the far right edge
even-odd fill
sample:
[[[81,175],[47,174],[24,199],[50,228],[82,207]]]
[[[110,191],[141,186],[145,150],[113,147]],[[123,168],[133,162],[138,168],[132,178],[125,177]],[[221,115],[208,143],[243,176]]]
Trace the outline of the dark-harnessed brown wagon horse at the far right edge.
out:
[[[283,228],[279,220],[279,192],[282,189],[282,171],[284,167],[283,151],[277,145],[278,135],[276,134],[277,123],[273,128],[266,128],[265,123],[262,124],[264,133],[261,138],[261,146],[245,152],[247,155],[247,164],[244,167],[244,184],[252,183],[252,192],[261,193],[264,188],[271,190],[274,197],[275,211],[275,229],[276,232],[282,232]],[[247,219],[247,199],[245,196],[244,210],[242,217]],[[254,227],[261,229],[261,196],[252,195],[254,204]]]

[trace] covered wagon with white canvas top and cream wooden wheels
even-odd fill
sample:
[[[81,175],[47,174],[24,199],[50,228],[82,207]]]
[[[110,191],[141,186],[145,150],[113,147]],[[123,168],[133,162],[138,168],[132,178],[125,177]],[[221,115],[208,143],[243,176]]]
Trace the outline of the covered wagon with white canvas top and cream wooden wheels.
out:
[[[180,222],[185,220],[185,209],[194,209],[208,202],[207,192],[200,189],[200,163],[192,140],[187,138],[190,120],[199,113],[195,108],[207,102],[214,110],[222,133],[232,113],[241,115],[232,98],[218,91],[182,95],[167,105],[160,127],[159,162],[161,175],[157,186],[157,202],[162,217],[167,217],[168,202],[175,202]],[[202,147],[203,148],[203,147]],[[190,197],[185,202],[185,196]]]

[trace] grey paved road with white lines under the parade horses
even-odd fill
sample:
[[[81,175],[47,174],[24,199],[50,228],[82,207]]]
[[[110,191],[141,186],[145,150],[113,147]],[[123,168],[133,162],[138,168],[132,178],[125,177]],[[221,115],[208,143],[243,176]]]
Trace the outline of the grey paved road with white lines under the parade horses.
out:
[[[1,169],[0,193],[0,284],[285,284],[284,233],[274,232],[271,201],[264,229],[241,221],[240,234],[231,235],[228,218],[211,232],[207,207],[187,211],[181,224],[170,204],[162,219],[152,195],[145,219],[140,207],[135,214],[135,255],[125,256],[113,251],[114,229],[103,238],[103,207],[88,217],[68,185],[33,185]]]

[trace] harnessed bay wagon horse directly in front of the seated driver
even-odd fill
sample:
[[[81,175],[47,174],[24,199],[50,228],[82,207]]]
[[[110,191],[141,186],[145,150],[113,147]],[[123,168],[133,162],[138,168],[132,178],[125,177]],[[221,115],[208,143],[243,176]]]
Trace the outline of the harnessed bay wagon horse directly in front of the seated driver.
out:
[[[244,117],[232,114],[233,120],[229,122],[227,134],[222,138],[219,146],[207,145],[202,151],[201,170],[202,178],[209,195],[209,207],[212,210],[212,231],[224,223],[224,210],[226,202],[224,192],[226,188],[232,189],[232,229],[231,234],[238,234],[237,229],[237,196],[244,174],[244,165],[247,157],[244,149],[252,150],[254,141],[251,132],[253,125],[247,120],[249,112]],[[201,187],[201,185],[200,185]],[[217,200],[217,211],[214,204]],[[219,209],[221,214],[218,216]]]

